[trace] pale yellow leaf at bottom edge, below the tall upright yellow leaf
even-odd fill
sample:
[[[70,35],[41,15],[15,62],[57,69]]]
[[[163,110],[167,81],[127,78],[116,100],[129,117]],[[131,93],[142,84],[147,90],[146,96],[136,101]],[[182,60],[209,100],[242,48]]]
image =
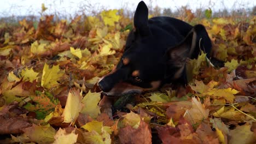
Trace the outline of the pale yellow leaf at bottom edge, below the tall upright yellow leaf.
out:
[[[55,141],[53,143],[59,144],[69,144],[69,143],[76,143],[77,142],[78,134],[75,134],[75,129],[71,131],[71,133],[67,133],[65,129],[59,129],[54,136]]]

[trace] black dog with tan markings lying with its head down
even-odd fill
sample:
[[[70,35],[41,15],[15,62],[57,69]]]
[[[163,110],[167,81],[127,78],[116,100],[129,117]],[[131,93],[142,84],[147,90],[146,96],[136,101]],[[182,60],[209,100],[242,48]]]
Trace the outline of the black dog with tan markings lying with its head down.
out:
[[[139,2],[125,51],[117,67],[98,82],[106,95],[141,93],[165,83],[187,83],[185,63],[197,58],[200,49],[211,52],[205,27],[174,19],[148,19],[147,5]]]

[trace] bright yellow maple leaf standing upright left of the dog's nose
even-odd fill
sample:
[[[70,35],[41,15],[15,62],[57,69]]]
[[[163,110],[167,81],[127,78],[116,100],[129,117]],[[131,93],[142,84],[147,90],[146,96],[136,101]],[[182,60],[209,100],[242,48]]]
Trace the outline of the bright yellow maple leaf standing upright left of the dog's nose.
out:
[[[41,86],[45,88],[51,88],[58,86],[59,80],[65,74],[64,70],[60,70],[59,65],[53,65],[53,68],[49,68],[48,64],[44,64]]]

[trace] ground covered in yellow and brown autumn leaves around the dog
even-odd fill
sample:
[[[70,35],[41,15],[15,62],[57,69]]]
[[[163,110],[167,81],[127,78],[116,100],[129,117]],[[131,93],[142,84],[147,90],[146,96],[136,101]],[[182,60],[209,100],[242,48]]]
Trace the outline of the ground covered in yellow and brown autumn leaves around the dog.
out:
[[[178,18],[205,25],[224,67],[202,54],[187,87],[136,95],[113,119],[96,83],[132,28],[121,10],[0,23],[0,143],[255,143],[256,17]]]

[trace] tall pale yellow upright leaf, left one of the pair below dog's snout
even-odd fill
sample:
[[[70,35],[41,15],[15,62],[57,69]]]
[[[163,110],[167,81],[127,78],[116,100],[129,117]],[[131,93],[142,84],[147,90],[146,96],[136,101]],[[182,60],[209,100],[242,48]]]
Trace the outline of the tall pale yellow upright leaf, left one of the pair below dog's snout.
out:
[[[65,109],[62,113],[64,123],[74,124],[77,121],[79,112],[83,109],[82,94],[79,93],[79,89],[70,89],[66,102]]]

